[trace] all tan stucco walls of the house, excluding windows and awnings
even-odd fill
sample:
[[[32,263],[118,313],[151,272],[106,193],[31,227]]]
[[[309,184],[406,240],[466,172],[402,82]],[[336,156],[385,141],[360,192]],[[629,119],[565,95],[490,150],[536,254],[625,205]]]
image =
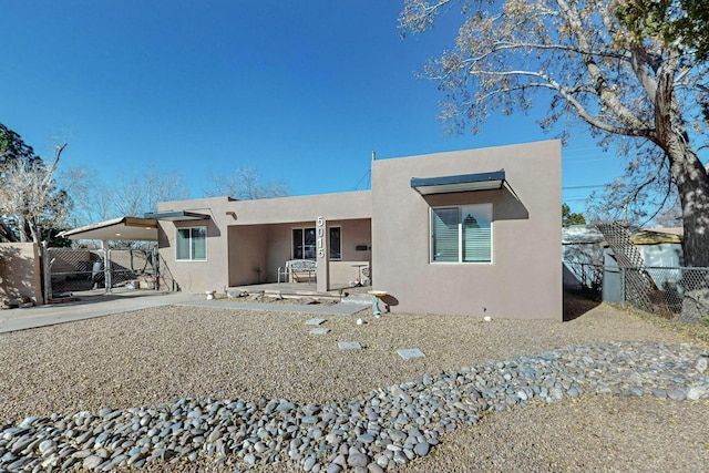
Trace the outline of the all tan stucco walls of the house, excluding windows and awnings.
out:
[[[501,191],[421,196],[412,177],[505,169]],[[226,197],[169,202],[160,212],[191,210],[209,220],[160,224],[163,264],[182,290],[224,290],[275,281],[291,258],[294,227],[342,226],[341,261],[329,264],[329,287],[371,264],[374,289],[388,290],[392,311],[562,319],[561,144],[557,141],[381,160],[372,191],[236,202]],[[430,209],[493,205],[492,264],[432,264]],[[207,224],[207,260],[175,261],[175,227]],[[354,251],[367,244],[371,250]],[[327,258],[326,258],[327,259]],[[321,263],[319,260],[319,263]],[[325,278],[318,267],[318,290]],[[168,287],[169,288],[169,287]],[[483,311],[483,307],[486,308]]]

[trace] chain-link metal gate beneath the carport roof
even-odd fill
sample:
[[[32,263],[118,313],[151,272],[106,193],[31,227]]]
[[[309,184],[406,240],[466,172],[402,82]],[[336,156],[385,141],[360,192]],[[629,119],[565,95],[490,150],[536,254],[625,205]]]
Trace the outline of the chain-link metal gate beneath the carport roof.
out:
[[[47,300],[89,290],[109,294],[157,288],[157,248],[154,246],[99,250],[45,248],[43,254]]]

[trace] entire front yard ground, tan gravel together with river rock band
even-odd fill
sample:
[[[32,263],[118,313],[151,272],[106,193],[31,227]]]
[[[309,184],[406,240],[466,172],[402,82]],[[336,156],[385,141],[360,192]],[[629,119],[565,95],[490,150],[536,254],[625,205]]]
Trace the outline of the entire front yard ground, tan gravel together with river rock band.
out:
[[[362,316],[311,336],[309,315],[167,307],[2,335],[0,471],[709,464],[706,347],[675,332],[607,306],[564,323]]]

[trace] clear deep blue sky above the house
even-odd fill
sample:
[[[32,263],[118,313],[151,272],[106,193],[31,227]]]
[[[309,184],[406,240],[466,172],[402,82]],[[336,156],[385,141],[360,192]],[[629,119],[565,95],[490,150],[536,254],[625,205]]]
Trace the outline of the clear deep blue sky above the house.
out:
[[[4,0],[0,121],[61,167],[111,185],[150,166],[199,197],[214,173],[254,167],[294,194],[368,188],[378,158],[547,140],[534,116],[446,136],[443,95],[418,80],[454,19],[400,38],[399,1]],[[541,103],[540,113],[544,106]],[[580,128],[563,185],[612,181],[621,163]],[[491,163],[494,167],[494,163]],[[568,188],[575,210],[593,188]]]

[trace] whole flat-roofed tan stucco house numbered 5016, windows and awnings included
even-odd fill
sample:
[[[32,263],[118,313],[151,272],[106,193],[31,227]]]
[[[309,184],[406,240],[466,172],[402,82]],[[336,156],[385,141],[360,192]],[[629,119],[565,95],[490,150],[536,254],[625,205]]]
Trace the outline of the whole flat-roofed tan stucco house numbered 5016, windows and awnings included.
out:
[[[314,259],[318,291],[369,268],[392,311],[562,320],[558,141],[371,166],[371,191],[161,203],[161,271],[222,291]]]

